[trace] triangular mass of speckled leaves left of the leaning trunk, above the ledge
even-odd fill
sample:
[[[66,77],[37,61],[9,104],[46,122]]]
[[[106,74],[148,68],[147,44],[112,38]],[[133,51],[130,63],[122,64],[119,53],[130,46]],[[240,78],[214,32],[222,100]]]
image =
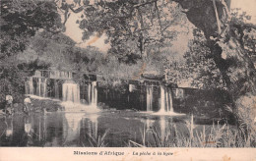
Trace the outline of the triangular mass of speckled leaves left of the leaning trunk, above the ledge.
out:
[[[165,67],[167,81],[179,84],[182,80],[187,80],[193,87],[224,89],[222,74],[211,56],[202,31],[195,28],[193,35],[188,43],[189,49],[183,55],[185,61],[172,61]]]

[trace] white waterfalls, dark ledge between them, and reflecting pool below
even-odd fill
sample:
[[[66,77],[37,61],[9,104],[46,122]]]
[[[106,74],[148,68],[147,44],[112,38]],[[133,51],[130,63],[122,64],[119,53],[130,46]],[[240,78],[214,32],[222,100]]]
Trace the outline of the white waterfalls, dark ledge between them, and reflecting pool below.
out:
[[[126,90],[117,91],[98,87],[96,80],[78,84],[72,79],[73,73],[58,71],[37,72],[28,78],[26,94],[58,100],[65,110],[0,118],[0,145],[96,146],[96,140],[107,132],[106,146],[123,147],[130,140],[155,146],[153,130],[161,141],[175,134],[173,127],[186,135],[191,113],[201,115],[198,109],[204,109],[210,114],[217,109],[216,99],[198,101],[194,97],[200,94],[198,90],[148,83],[123,85]],[[212,121],[195,117],[194,124],[202,129]]]

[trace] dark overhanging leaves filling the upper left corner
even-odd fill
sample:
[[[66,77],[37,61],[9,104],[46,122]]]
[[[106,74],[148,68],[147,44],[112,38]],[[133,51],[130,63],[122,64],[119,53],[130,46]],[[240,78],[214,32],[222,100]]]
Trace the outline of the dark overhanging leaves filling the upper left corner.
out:
[[[26,49],[39,28],[56,31],[61,26],[57,6],[51,1],[3,0],[1,2],[1,56]]]

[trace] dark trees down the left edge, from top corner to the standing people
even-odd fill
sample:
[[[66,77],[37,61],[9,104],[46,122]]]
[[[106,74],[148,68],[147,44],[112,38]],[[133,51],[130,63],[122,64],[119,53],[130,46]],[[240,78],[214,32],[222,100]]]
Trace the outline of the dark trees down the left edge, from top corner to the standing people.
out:
[[[19,71],[18,53],[25,51],[38,29],[61,31],[61,19],[54,1],[2,0],[0,18],[0,102],[11,92],[15,99],[24,93],[24,77]]]

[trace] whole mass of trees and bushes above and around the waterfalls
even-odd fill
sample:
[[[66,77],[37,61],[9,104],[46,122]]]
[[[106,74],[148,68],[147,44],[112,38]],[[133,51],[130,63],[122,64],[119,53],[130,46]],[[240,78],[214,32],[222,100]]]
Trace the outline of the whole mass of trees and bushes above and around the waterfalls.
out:
[[[24,78],[35,69],[99,73],[117,83],[138,80],[145,73],[166,74],[167,82],[190,79],[197,87],[227,90],[232,104],[226,108],[246,135],[255,117],[256,27],[246,23],[245,13],[230,13],[229,0],[173,1],[3,0],[0,102],[10,92],[19,100]],[[107,35],[107,54],[94,47],[78,48],[61,33],[70,12],[83,12],[78,23],[84,39]],[[195,26],[190,48],[183,61],[172,59],[170,47],[180,32],[173,27],[189,22]]]

